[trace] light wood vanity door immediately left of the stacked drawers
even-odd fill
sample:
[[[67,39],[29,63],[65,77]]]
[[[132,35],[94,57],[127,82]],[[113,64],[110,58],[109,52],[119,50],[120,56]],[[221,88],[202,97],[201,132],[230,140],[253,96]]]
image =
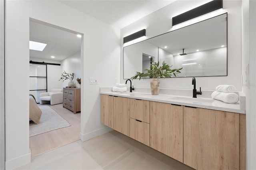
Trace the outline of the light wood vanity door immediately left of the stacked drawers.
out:
[[[130,136],[130,99],[114,96],[114,130]]]

